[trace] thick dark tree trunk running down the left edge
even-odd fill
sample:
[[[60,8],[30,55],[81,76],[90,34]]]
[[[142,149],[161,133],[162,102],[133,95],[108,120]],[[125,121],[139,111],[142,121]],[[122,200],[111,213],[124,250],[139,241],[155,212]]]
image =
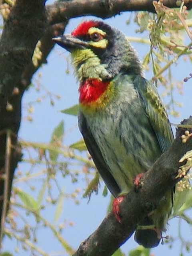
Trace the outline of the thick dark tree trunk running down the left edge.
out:
[[[17,145],[17,133],[21,119],[21,98],[24,92],[19,86],[22,73],[31,61],[34,48],[46,26],[45,0],[17,0],[4,24],[0,38],[0,171],[4,173],[6,130],[12,135],[8,198],[10,197],[14,170],[21,158]],[[0,198],[4,194],[4,180],[0,180]],[[0,216],[3,200],[0,200]]]

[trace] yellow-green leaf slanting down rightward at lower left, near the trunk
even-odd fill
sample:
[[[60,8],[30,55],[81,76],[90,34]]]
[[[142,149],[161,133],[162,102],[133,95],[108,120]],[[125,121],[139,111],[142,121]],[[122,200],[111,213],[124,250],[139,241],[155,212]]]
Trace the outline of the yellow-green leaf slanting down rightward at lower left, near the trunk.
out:
[[[15,192],[16,194],[18,194],[20,200],[22,200],[25,206],[27,206],[28,208],[31,208],[35,212],[39,212],[39,209],[40,209],[39,204],[31,195],[24,192],[20,188],[15,188]]]

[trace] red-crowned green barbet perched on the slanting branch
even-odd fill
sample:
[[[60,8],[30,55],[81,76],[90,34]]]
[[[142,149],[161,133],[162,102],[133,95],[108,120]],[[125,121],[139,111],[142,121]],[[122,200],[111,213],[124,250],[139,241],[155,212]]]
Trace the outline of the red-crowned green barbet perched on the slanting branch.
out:
[[[118,29],[98,20],[53,38],[70,52],[79,85],[78,126],[95,166],[119,204],[174,140],[157,88],[144,78],[136,50]],[[139,179],[138,179],[139,177]],[[136,182],[136,184],[137,184]],[[138,184],[137,184],[138,185]],[[172,211],[173,190],[139,223],[135,241],[158,246]]]

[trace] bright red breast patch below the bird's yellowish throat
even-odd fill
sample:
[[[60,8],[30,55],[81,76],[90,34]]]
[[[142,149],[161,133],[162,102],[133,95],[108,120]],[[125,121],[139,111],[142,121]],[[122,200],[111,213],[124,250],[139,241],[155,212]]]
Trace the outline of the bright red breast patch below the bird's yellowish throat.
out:
[[[102,82],[97,78],[87,79],[80,84],[79,88],[79,102],[82,104],[89,104],[98,100],[98,98],[106,90],[110,82]]]

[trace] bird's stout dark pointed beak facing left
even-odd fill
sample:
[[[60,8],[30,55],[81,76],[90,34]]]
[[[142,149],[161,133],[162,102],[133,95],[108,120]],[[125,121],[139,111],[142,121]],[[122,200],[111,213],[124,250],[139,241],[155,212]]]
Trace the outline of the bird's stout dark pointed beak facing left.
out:
[[[52,38],[54,42],[56,42],[61,47],[65,48],[69,52],[76,49],[86,49],[88,48],[88,43],[84,42],[75,36],[72,35],[64,35]]]

